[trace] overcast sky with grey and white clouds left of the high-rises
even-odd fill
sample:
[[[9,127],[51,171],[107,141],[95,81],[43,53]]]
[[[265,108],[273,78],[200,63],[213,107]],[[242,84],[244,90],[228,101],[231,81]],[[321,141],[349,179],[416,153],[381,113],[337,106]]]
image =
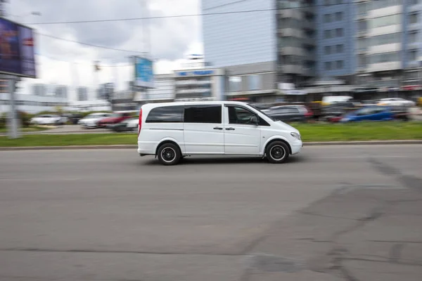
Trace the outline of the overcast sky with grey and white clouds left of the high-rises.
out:
[[[200,13],[199,0],[11,0],[6,12],[12,20],[25,24],[141,18],[145,16],[142,10],[144,1],[149,2],[151,17]],[[31,15],[32,12],[41,15]],[[146,37],[143,34],[143,25],[146,24],[151,34],[155,73],[170,73],[181,67],[189,53],[203,53],[199,17],[30,26],[39,33],[72,41],[142,52],[146,51]],[[30,84],[93,86],[97,83],[92,66],[94,60],[99,60],[101,65],[127,65],[129,55],[139,55],[82,46],[42,35],[35,39],[39,79],[25,79]],[[98,75],[99,82],[115,82],[117,77],[117,86],[122,89],[133,75],[132,68],[103,67]]]

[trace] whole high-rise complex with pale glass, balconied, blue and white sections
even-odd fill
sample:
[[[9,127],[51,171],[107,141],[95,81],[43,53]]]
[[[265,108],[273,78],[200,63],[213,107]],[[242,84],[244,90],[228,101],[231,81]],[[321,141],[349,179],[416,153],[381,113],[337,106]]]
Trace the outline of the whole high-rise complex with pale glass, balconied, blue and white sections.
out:
[[[226,69],[227,96],[274,98],[277,83],[330,79],[393,95],[421,88],[421,0],[202,4],[205,14],[225,13],[203,17],[203,37],[205,60]],[[245,12],[254,9],[262,12]]]

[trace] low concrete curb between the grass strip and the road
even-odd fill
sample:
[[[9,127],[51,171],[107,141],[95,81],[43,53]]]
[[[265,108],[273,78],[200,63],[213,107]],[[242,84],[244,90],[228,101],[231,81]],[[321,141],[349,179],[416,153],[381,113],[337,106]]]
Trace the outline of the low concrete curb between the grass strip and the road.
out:
[[[422,140],[409,141],[325,141],[303,143],[304,146],[326,145],[416,145]],[[13,150],[100,150],[100,149],[136,149],[138,145],[68,145],[68,146],[27,146],[27,147],[0,147],[0,151]]]

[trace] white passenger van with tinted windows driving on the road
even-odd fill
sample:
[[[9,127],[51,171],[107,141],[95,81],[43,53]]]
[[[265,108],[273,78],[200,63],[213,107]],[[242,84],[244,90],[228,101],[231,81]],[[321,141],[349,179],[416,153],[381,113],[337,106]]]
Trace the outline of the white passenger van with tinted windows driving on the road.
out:
[[[138,153],[164,165],[190,155],[267,156],[283,163],[301,149],[297,129],[247,103],[150,103],[139,112]]]

